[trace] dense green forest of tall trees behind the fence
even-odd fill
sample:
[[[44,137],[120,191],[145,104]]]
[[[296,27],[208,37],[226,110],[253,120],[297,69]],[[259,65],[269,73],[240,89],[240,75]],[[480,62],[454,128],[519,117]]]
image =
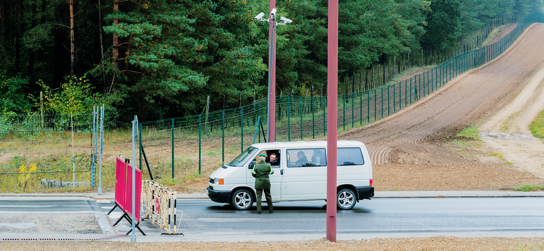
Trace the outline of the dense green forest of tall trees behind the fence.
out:
[[[262,0],[0,0],[2,114],[156,120],[264,98]],[[277,93],[326,95],[327,1],[277,0]],[[542,0],[341,0],[339,81],[413,49],[440,50]],[[319,90],[324,89],[324,90]],[[41,93],[41,96],[40,96]],[[300,94],[300,93],[299,93]]]

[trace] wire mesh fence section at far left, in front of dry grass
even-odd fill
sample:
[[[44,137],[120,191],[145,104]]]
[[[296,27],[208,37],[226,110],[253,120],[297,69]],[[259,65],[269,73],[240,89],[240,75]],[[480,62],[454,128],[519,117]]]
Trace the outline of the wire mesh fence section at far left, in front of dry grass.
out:
[[[92,114],[0,116],[0,187],[91,188]]]

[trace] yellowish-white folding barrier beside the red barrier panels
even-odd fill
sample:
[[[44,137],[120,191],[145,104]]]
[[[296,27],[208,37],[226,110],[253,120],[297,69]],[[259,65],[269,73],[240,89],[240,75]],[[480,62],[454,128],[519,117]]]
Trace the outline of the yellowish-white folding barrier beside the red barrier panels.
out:
[[[166,230],[167,233],[161,235],[183,235],[177,233],[183,216],[183,211],[176,210],[177,192],[153,180],[145,180],[142,194],[145,218]],[[176,225],[177,212],[181,212],[181,215]]]

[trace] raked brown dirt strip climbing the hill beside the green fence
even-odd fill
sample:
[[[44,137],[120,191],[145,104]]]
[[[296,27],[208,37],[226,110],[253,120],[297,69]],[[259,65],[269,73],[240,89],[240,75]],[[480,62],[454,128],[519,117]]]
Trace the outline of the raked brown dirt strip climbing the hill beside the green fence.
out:
[[[544,24],[531,25],[496,59],[461,74],[439,91],[396,114],[338,135],[366,143],[375,164],[418,161],[474,163],[442,147],[467,124],[494,112],[544,65]],[[410,158],[406,158],[410,156]]]

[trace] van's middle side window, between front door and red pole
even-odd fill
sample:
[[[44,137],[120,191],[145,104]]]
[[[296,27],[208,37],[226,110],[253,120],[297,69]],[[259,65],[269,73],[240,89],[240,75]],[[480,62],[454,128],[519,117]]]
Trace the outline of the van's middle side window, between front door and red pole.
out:
[[[326,166],[325,148],[287,149],[287,167]]]

